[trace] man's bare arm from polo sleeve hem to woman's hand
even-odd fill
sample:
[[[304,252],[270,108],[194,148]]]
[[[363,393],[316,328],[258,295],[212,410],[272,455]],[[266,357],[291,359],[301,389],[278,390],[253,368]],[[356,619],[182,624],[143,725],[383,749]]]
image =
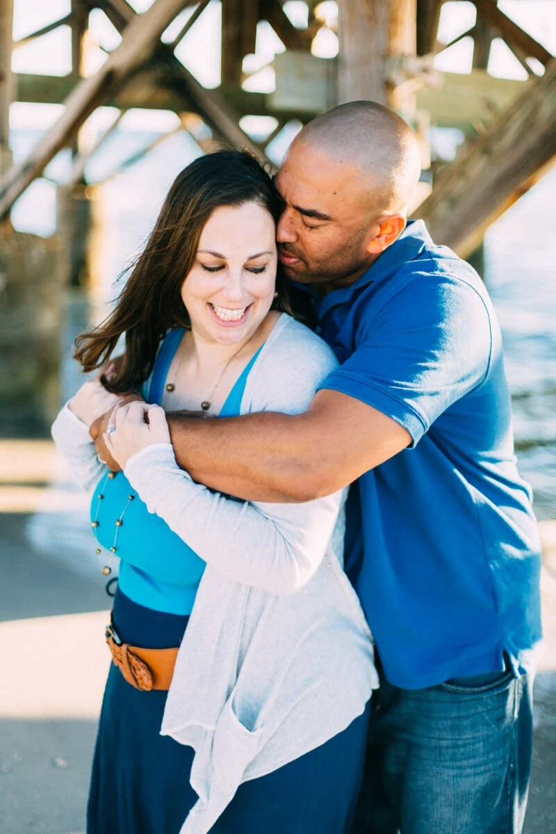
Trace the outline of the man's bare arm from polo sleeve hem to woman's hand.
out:
[[[304,414],[195,420],[167,414],[178,464],[193,480],[251,501],[330,495],[411,443],[395,420],[323,389]]]

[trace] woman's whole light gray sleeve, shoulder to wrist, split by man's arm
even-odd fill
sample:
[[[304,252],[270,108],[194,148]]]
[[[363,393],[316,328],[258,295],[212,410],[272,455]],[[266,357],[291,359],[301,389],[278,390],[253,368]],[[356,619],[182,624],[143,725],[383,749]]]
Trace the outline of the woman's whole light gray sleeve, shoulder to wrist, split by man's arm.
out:
[[[244,402],[252,411],[303,411],[335,364],[321,339],[290,320],[253,367]],[[274,595],[293,593],[316,572],[345,497],[340,490],[303,504],[268,504],[221,495],[180,470],[170,444],[133,455],[124,472],[148,510],[208,565]]]

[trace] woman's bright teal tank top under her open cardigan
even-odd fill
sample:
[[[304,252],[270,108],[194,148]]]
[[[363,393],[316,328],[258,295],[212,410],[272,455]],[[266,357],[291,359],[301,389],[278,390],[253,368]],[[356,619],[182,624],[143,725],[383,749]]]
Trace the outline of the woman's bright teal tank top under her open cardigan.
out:
[[[144,392],[149,403],[160,404],[162,400],[168,369],[183,332],[183,329],[171,330],[158,350],[150,384]],[[233,385],[220,411],[221,417],[239,414],[248,374],[260,350]],[[91,523],[96,523],[93,532],[99,548],[120,560],[119,589],[133,602],[147,608],[169,614],[191,614],[205,562],[165,521],[148,511],[123,472],[110,475],[108,471],[104,473],[94,490]],[[115,553],[111,552],[112,547]]]

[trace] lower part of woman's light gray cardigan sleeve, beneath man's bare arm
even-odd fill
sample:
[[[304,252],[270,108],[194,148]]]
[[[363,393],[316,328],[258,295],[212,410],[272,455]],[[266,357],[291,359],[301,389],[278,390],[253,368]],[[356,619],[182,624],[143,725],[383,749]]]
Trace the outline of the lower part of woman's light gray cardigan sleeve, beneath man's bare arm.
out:
[[[170,444],[133,455],[125,475],[201,559],[228,578],[292,594],[323,560],[343,490],[304,504],[255,504],[208,490],[180,470]]]

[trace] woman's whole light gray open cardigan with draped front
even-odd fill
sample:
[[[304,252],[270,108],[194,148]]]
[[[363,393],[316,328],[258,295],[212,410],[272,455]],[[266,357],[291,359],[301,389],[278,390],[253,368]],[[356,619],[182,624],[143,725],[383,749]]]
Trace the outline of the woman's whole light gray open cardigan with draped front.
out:
[[[283,314],[248,376],[242,414],[307,409],[336,364],[322,339]],[[67,443],[68,426],[61,435]],[[169,444],[134,455],[125,475],[207,562],[161,730],[195,750],[199,799],[181,834],[204,834],[242,781],[343,731],[378,686],[342,568],[345,490],[305,504],[228,500],[180,470]]]

